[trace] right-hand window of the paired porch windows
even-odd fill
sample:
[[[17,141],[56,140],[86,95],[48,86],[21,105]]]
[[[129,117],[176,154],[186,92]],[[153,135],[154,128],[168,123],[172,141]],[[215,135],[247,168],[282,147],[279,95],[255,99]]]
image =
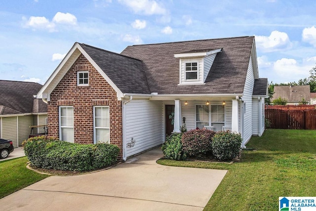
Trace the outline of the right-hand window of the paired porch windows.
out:
[[[211,105],[211,125],[214,131],[220,131],[225,126],[225,106]]]

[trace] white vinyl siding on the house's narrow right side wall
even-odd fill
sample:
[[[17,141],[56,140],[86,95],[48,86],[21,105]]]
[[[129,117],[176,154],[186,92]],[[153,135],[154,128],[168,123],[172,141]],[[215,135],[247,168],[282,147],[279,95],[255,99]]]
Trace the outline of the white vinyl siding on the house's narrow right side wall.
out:
[[[246,144],[249,139],[252,136],[253,132],[253,122],[252,122],[252,91],[253,91],[253,85],[254,85],[255,79],[253,75],[253,68],[252,68],[252,60],[251,56],[249,59],[249,65],[248,65],[248,70],[247,70],[247,76],[246,76],[246,81],[245,81],[245,86],[243,89],[243,96],[242,99],[244,100],[244,103],[246,104],[246,109],[244,112],[244,119],[243,119],[243,144]],[[258,101],[257,101],[258,102]]]

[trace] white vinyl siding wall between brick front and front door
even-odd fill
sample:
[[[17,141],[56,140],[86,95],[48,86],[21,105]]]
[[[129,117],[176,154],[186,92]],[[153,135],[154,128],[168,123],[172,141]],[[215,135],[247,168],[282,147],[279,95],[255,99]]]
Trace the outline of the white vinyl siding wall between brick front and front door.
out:
[[[151,149],[163,143],[161,101],[132,100],[125,104],[125,146],[133,138],[133,147],[126,147],[126,157]]]

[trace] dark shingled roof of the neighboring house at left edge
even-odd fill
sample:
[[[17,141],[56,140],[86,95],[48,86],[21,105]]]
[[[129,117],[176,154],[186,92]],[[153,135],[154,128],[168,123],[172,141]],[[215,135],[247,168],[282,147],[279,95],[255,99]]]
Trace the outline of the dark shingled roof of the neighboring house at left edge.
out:
[[[0,80],[0,115],[47,112],[47,104],[33,97],[41,87],[38,83]]]

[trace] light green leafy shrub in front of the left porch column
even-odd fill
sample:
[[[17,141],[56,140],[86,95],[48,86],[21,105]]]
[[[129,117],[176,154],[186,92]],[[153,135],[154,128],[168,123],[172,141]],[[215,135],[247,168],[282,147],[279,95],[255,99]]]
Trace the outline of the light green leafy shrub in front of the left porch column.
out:
[[[161,147],[165,158],[178,161],[186,159],[186,154],[182,150],[181,137],[182,133],[178,133],[171,134],[166,138],[166,142]]]

